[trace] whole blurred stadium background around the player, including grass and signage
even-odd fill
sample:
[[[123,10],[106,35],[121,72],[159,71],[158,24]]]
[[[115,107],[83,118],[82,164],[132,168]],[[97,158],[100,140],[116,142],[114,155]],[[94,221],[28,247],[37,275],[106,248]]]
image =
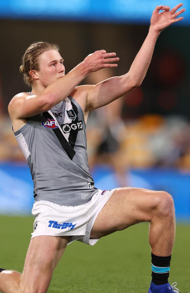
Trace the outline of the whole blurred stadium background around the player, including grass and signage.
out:
[[[39,40],[58,43],[66,72],[91,52],[100,49],[116,52],[120,57],[118,68],[92,73],[82,82],[96,84],[129,70],[148,33],[151,13],[160,4],[173,7],[178,1],[0,2],[0,247],[3,251],[0,266],[23,269],[32,232],[33,184],[7,112],[8,103],[16,93],[30,90],[19,73],[25,49]],[[176,281],[179,278],[180,292],[189,293],[190,3],[186,0],[183,4],[184,20],[160,34],[142,85],[90,113],[87,140],[90,170],[97,188],[135,186],[172,194],[178,237],[171,274]],[[145,292],[146,289],[134,284],[139,282],[146,288],[150,279],[147,235],[147,225],[140,224],[102,239],[93,248],[72,244],[56,268],[48,292],[125,292],[126,288],[126,292]],[[7,241],[13,239],[15,245],[10,252]],[[110,242],[115,247],[114,253]],[[68,263],[67,271],[63,271],[64,263],[73,255],[77,260],[75,272]],[[103,264],[102,259],[105,259]],[[90,275],[89,262],[95,263]],[[134,263],[144,266],[143,273]],[[182,273],[182,267],[186,273]],[[97,276],[97,270],[101,270],[101,277]],[[61,288],[65,286],[68,289],[63,291]]]

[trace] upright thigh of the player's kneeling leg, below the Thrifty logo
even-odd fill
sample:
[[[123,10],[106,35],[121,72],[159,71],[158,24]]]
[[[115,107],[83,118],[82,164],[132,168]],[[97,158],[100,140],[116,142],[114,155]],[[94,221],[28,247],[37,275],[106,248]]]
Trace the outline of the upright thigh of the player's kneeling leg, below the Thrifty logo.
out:
[[[18,292],[47,292],[53,270],[69,238],[69,236],[37,236],[31,239]]]

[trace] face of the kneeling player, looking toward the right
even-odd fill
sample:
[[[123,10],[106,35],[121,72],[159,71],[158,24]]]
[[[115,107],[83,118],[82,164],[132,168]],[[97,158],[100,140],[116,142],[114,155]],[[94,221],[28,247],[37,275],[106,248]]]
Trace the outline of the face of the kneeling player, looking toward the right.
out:
[[[56,79],[65,75],[63,58],[57,50],[43,52],[38,57],[39,71],[37,77],[45,88]]]

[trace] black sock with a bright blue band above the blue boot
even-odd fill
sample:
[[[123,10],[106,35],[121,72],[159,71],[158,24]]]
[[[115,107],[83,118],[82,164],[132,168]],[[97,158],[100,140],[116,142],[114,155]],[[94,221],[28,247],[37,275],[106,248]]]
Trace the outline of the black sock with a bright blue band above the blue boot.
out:
[[[155,285],[163,285],[168,283],[171,255],[157,256],[151,253],[151,256],[152,256],[152,282]]]

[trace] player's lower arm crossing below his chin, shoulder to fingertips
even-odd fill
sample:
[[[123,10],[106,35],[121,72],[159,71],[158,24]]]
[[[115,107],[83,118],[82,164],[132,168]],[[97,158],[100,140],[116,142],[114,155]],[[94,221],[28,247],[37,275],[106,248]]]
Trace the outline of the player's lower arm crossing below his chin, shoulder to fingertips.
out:
[[[118,61],[115,55],[106,53],[105,50],[96,51],[68,74],[49,84],[41,94],[30,96],[28,93],[20,93],[14,96],[8,106],[10,116],[21,119],[48,111],[64,100],[89,72],[105,67],[116,67],[117,64],[112,64]]]

